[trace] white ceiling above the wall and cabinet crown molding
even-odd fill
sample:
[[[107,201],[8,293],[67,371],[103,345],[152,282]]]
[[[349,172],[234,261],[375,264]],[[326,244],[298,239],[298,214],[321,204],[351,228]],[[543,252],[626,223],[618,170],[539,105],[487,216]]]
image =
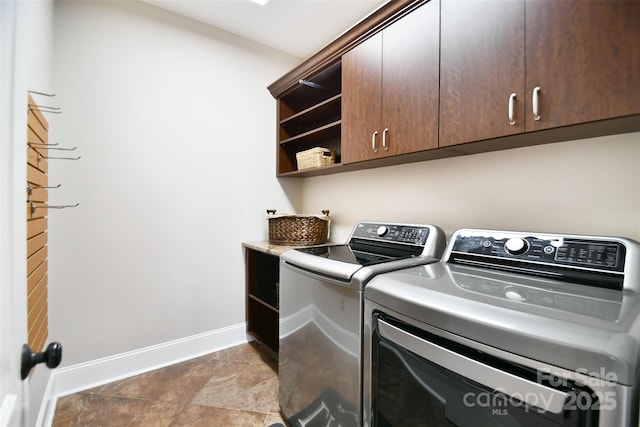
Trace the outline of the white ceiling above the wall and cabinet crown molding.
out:
[[[143,0],[291,55],[306,58],[387,0]]]

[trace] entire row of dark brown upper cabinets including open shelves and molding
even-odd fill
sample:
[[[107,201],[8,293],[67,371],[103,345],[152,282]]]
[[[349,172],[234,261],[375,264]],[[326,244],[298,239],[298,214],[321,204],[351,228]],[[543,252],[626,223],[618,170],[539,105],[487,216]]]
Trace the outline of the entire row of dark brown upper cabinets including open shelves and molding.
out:
[[[278,175],[640,131],[639,58],[640,0],[388,2],[269,86]],[[314,146],[340,163],[297,171]]]

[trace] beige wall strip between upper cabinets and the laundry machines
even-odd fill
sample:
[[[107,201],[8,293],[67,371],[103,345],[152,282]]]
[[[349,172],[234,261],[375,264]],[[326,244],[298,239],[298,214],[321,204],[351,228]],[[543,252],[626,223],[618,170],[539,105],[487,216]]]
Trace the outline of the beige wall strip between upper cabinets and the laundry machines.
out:
[[[638,159],[631,133],[307,178],[302,209],[337,241],[364,219],[640,241]]]

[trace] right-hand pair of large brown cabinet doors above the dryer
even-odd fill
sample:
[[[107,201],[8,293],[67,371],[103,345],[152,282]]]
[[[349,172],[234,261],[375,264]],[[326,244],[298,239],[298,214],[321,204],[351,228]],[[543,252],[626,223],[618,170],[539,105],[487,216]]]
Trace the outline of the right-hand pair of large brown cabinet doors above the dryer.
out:
[[[640,2],[441,9],[441,147],[640,113]]]

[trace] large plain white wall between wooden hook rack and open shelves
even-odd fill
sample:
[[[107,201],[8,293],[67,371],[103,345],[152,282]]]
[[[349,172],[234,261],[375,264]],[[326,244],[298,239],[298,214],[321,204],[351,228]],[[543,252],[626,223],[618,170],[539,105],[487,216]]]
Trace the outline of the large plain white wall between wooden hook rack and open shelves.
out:
[[[135,1],[56,3],[56,142],[82,156],[50,162],[50,202],[80,203],[49,214],[63,366],[244,322],[241,242],[299,203],[266,89],[298,62]]]

